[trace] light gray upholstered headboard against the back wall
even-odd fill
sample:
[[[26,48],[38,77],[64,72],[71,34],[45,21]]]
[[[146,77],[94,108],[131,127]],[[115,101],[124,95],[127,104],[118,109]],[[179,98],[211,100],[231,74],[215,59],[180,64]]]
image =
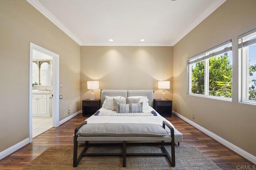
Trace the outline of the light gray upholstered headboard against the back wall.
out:
[[[131,96],[147,96],[148,103],[153,107],[154,101],[154,90],[101,90],[100,91],[100,106],[102,106],[105,96],[122,96],[122,97],[131,97]]]

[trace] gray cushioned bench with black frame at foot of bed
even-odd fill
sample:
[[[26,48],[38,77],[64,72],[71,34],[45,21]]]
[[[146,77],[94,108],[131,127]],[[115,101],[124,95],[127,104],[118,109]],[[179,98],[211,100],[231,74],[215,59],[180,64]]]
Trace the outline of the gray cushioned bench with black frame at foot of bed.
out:
[[[165,130],[170,128],[171,135]],[[122,153],[86,153],[88,141],[122,141]],[[171,156],[164,147],[165,141],[171,140]],[[86,146],[77,156],[78,141],[86,141]],[[160,141],[164,153],[126,153],[126,141]],[[76,167],[82,156],[122,156],[123,167],[126,167],[126,156],[167,156],[175,166],[174,129],[163,121],[162,127],[156,124],[138,123],[91,123],[84,121],[75,129],[73,166]],[[143,143],[140,143],[143,144]]]

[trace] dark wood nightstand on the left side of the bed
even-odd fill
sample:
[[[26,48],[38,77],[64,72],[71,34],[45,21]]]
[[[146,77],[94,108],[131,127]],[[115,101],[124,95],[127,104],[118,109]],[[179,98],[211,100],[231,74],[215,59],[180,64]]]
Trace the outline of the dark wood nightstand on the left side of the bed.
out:
[[[82,101],[83,106],[83,117],[92,116],[100,109],[100,99],[90,100],[85,99]]]

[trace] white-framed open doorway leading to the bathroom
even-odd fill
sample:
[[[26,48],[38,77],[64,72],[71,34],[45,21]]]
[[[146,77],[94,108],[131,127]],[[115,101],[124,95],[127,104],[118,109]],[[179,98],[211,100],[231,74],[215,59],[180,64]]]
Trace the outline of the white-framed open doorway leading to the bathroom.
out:
[[[59,55],[30,43],[29,138],[59,126]]]

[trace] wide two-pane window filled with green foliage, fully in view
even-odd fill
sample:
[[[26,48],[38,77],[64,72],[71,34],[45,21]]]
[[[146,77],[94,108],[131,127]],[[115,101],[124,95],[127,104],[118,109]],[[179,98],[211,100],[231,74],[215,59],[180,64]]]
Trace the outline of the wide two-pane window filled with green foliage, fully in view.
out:
[[[232,98],[231,40],[188,59],[188,94]]]

